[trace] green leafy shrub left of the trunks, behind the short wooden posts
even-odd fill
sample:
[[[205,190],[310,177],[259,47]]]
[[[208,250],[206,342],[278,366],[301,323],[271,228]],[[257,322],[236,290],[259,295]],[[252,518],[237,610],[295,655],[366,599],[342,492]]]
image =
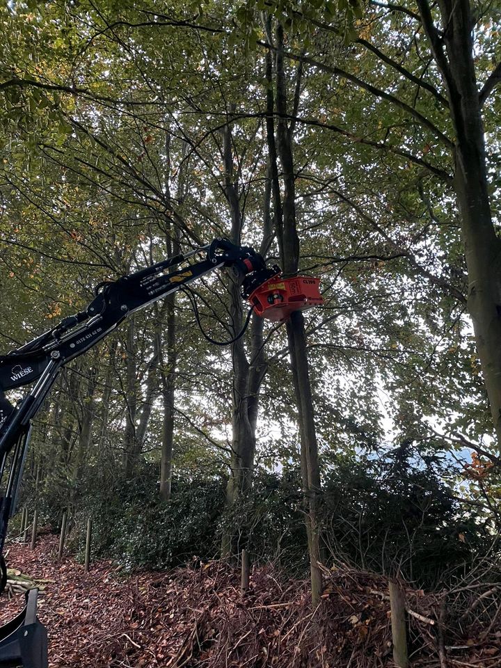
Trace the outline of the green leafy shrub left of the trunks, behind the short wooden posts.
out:
[[[113,557],[126,568],[166,568],[193,557],[215,557],[223,481],[176,480],[173,498],[162,502],[155,479],[152,467],[145,468],[134,485],[112,486],[106,494],[99,480],[94,479],[94,484],[89,480],[90,493],[81,499],[74,520],[80,527],[86,517],[93,517],[96,553]],[[77,532],[77,540],[83,550],[85,536]]]

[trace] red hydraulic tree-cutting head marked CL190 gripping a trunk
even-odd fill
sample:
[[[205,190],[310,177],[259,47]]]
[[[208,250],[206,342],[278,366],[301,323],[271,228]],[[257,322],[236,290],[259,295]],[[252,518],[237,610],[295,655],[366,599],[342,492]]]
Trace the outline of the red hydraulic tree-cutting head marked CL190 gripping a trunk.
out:
[[[248,301],[257,315],[273,322],[287,320],[294,311],[304,311],[324,303],[320,279],[310,276],[272,276],[252,292]]]

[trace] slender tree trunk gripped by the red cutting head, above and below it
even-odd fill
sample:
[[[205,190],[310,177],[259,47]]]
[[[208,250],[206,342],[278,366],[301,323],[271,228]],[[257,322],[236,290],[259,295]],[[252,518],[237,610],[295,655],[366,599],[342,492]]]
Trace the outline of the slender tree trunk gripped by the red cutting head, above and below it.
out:
[[[285,275],[294,276],[299,269],[299,237],[296,228],[296,184],[294,155],[292,152],[292,132],[287,125],[287,82],[283,63],[283,27],[280,24],[278,24],[276,30],[276,46],[276,109],[278,111],[276,147],[283,174],[281,216],[276,218],[276,220],[280,220],[281,218],[281,224],[277,227],[277,234],[283,272]],[[268,100],[268,104],[272,102],[272,100]],[[269,111],[271,110],[269,109]],[[274,140],[271,153],[273,152]],[[279,207],[280,202],[276,200],[275,209],[278,210]],[[305,518],[308,532],[308,550],[310,553],[312,605],[315,607],[320,601],[322,592],[321,571],[318,566],[321,561],[319,540],[321,484],[317,434],[315,430],[315,411],[312,401],[304,319],[301,312],[294,312],[289,321],[287,321],[287,338],[289,341],[289,354],[301,437],[301,475],[305,504],[308,509]]]

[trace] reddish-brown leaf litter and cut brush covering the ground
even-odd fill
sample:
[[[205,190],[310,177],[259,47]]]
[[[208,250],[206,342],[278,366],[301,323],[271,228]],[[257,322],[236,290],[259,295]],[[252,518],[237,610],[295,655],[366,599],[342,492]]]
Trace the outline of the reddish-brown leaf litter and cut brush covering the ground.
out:
[[[124,576],[106,561],[85,573],[70,557],[57,562],[56,550],[46,536],[34,552],[14,544],[9,555],[33,582],[47,581],[39,617],[53,667],[393,666],[388,580],[380,575],[326,571],[312,612],[308,582],[285,580],[271,566],[255,568],[242,594],[225,562]],[[440,594],[407,587],[411,666],[500,666],[497,591],[479,582]],[[2,621],[20,607],[20,596],[5,600]]]

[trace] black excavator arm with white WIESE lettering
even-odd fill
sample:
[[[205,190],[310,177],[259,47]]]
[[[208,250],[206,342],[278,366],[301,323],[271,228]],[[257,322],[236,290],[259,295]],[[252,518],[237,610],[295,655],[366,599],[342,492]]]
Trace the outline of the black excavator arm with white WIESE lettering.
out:
[[[278,267],[267,269],[253,248],[235,246],[218,238],[190,253],[170,257],[116,281],[101,283],[86,310],[63,319],[54,328],[0,357],[1,591],[6,585],[3,545],[8,520],[15,512],[31,421],[61,368],[100,342],[127,316],[221,267],[234,271],[244,297],[280,271]],[[33,387],[29,393],[18,406],[12,406],[4,392],[30,383]],[[7,477],[6,484],[2,484],[4,477]],[[36,617],[36,594],[37,591],[32,590],[24,610],[0,628],[0,667],[47,668],[47,632]]]

